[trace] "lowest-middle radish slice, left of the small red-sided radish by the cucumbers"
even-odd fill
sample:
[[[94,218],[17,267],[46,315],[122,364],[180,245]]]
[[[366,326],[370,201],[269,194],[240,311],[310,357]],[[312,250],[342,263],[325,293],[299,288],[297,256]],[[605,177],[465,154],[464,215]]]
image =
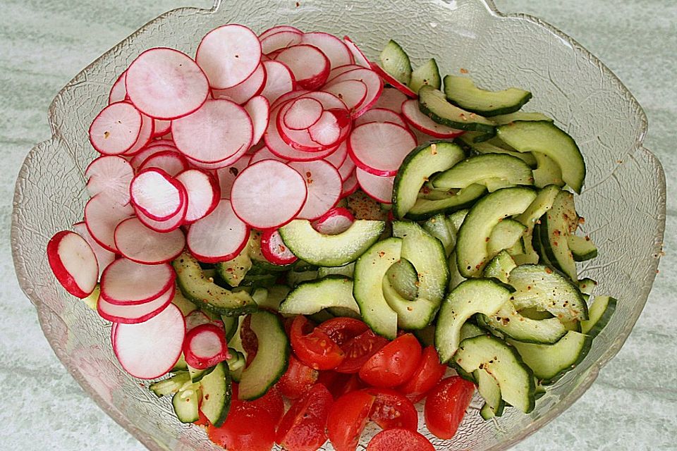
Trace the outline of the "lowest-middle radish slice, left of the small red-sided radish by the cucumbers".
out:
[[[205,263],[218,263],[236,257],[245,247],[248,238],[247,224],[233,212],[231,201],[221,199],[209,216],[190,226],[186,241],[190,253],[196,259]]]

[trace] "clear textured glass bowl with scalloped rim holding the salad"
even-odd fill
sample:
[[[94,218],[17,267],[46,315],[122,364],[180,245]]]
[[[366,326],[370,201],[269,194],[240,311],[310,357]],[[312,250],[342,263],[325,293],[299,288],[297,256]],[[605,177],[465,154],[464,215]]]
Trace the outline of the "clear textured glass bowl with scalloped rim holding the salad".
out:
[[[506,409],[498,421],[485,422],[472,408],[453,440],[428,435],[438,450],[505,450],[571,406],[621,348],[647,300],[665,227],[665,177],[642,147],[645,113],[608,68],[550,25],[503,16],[482,0],[216,1],[211,10],[181,8],[159,16],[76,75],[49,109],[54,135],[32,149],[21,168],[11,238],[19,283],[35,304],[44,335],[85,391],[150,450],[219,449],[200,428],[178,423],[168,400],[158,400],[121,369],[109,343],[111,324],[56,283],[44,249],[57,230],[82,219],[83,173],[95,156],[87,128],[118,74],[150,47],[195,54],[199,37],[224,23],[243,23],[255,32],[284,23],[349,35],[367,56],[393,38],[415,63],[434,56],[443,73],[464,68],[489,88],[530,89],[528,109],[547,113],[575,137],[587,163],[578,206],[585,233],[599,247],[599,257],[580,272],[599,281],[598,292],[619,299],[616,314],[585,361],[531,414]],[[361,450],[372,433],[365,434]]]

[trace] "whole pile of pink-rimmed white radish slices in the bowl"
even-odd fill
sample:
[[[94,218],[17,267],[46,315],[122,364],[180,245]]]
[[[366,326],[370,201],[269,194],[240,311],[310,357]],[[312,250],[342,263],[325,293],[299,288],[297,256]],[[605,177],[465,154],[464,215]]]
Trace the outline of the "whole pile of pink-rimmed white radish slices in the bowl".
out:
[[[391,203],[394,177],[417,143],[458,135],[407,104],[415,97],[348,37],[286,25],[260,36],[218,27],[195,58],[144,51],[90,126],[101,156],[85,172],[84,222],[49,242],[56,278],[76,297],[100,280],[97,310],[114,322],[123,367],[140,378],[164,375],[197,335],[186,335],[171,306],[169,262],[186,247],[205,263],[233,259],[255,229],[264,231],[264,256],[289,264],[296,257],[277,229],[294,218],[340,233],[353,221],[336,208],[342,197],[361,188]],[[213,329],[197,328],[203,347],[218,342]],[[162,345],[133,345],[140,336]]]

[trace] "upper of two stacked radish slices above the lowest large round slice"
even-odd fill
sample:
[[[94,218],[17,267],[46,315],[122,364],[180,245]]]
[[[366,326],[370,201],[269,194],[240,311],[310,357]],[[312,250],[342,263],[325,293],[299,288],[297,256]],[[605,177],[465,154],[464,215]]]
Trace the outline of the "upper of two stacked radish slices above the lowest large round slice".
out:
[[[145,304],[173,287],[176,273],[168,263],[141,264],[121,258],[101,276],[101,296],[110,304]]]

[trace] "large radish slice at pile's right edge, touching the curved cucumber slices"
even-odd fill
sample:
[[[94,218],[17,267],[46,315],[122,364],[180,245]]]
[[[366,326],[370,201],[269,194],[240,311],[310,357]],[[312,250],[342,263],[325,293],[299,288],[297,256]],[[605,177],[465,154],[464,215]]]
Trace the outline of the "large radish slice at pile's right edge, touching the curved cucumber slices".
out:
[[[397,173],[404,157],[416,147],[416,138],[394,123],[366,123],[350,134],[348,154],[355,164],[374,175]]]

